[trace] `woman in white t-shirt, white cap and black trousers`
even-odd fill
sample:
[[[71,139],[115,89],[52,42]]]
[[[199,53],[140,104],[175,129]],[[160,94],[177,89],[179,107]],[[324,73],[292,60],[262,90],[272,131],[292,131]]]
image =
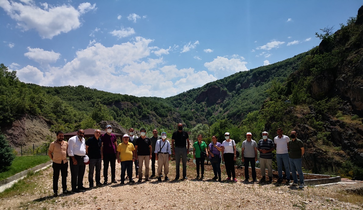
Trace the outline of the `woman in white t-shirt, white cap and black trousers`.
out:
[[[236,161],[236,143],[229,138],[229,133],[225,133],[225,141],[222,143],[222,160],[226,167],[227,180],[232,180],[237,182],[236,173],[234,172],[234,161]]]

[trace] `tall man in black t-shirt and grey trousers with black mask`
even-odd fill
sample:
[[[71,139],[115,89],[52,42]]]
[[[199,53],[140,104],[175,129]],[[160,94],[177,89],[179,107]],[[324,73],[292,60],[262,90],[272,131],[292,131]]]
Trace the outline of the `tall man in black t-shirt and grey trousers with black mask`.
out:
[[[178,130],[171,137],[171,148],[175,155],[175,180],[180,177],[180,157],[183,163],[183,180],[187,178],[187,155],[189,153],[189,135],[183,130],[183,124],[178,124]]]

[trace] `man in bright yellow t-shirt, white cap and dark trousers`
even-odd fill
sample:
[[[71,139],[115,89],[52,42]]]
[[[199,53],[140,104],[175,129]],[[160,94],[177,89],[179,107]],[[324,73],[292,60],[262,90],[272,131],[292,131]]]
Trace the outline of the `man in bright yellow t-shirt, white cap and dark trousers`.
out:
[[[129,176],[129,183],[134,183],[132,180],[132,162],[135,161],[135,148],[129,142],[129,135],[125,134],[122,137],[122,143],[117,146],[117,162],[121,163],[121,185],[125,184],[125,172]]]

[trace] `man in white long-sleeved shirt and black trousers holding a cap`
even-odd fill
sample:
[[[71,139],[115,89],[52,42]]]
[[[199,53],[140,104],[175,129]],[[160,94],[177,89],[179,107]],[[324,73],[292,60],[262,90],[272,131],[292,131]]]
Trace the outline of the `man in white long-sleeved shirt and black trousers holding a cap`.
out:
[[[83,176],[85,175],[86,165],[83,158],[86,155],[86,144],[83,130],[77,131],[77,136],[68,140],[68,156],[71,175],[72,191],[78,193],[87,188],[83,187]]]

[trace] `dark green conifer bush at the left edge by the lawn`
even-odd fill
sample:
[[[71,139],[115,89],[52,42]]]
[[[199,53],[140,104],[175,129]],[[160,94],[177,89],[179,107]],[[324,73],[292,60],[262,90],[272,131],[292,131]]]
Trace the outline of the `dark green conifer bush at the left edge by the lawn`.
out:
[[[13,149],[3,134],[0,134],[0,172],[8,170],[15,158]]]

